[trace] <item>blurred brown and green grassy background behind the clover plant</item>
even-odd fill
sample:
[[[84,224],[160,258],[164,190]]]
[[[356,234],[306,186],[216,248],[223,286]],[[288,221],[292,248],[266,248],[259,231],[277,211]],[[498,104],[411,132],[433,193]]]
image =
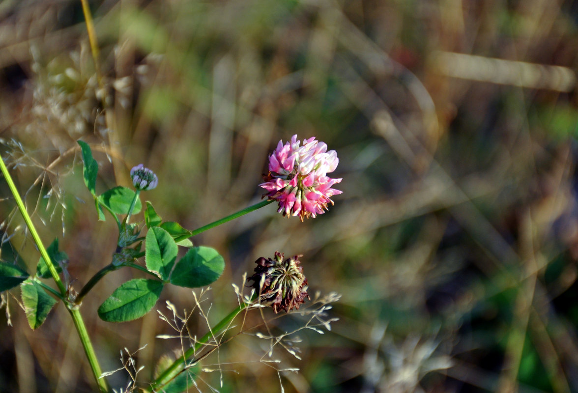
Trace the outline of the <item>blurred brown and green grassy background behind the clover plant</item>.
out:
[[[2,155],[45,244],[58,237],[68,253],[77,290],[110,262],[117,236],[97,220],[77,139],[99,162],[98,192],[129,186],[142,162],[160,179],[143,200],[189,229],[260,201],[280,139],[316,136],[339,156],[343,194],[322,216],[301,223],[269,205],[192,239],[227,262],[203,295],[213,324],[237,304],[231,283],[277,250],[303,254],[312,297],[342,295],[327,315],[339,321],[298,332],[302,359],[281,346],[269,358],[255,331],[237,336],[189,391],[578,392],[578,3],[90,8],[97,67],[80,1],[0,2]],[[33,272],[38,251],[4,182],[0,193],[2,259],[18,255]],[[155,336],[175,331],[156,312],[123,324],[95,312],[131,277],[141,276],[106,276],[81,311],[103,369],[147,344],[133,356],[145,383],[180,348]],[[31,331],[19,292],[3,294],[0,391],[93,391],[64,306]],[[155,309],[170,315],[165,299],[195,307],[186,288],[165,288]],[[192,315],[191,335],[205,334]],[[265,317],[274,334],[307,320]],[[117,391],[129,380],[110,377]]]

